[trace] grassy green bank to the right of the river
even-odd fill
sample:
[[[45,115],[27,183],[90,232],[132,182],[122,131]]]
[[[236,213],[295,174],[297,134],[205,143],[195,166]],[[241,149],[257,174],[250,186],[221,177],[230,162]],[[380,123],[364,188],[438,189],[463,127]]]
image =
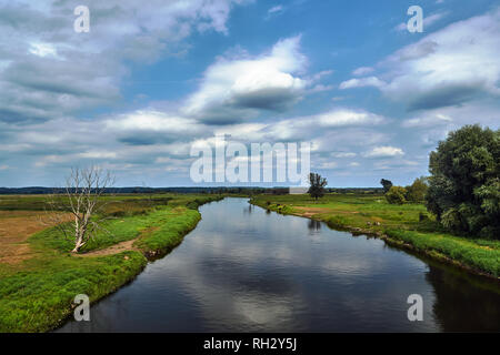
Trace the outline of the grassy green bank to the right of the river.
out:
[[[377,235],[473,273],[500,277],[500,241],[456,236],[441,230],[422,204],[392,205],[383,195],[258,195],[251,203],[283,214],[328,223],[333,229]]]

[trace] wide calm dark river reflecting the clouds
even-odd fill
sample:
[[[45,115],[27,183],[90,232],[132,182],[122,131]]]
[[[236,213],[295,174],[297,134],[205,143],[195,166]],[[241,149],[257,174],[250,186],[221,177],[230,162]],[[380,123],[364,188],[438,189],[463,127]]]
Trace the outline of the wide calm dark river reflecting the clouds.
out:
[[[58,332],[500,331],[497,284],[267,212],[246,199],[203,205],[171,254]],[[423,297],[409,322],[407,298]]]

